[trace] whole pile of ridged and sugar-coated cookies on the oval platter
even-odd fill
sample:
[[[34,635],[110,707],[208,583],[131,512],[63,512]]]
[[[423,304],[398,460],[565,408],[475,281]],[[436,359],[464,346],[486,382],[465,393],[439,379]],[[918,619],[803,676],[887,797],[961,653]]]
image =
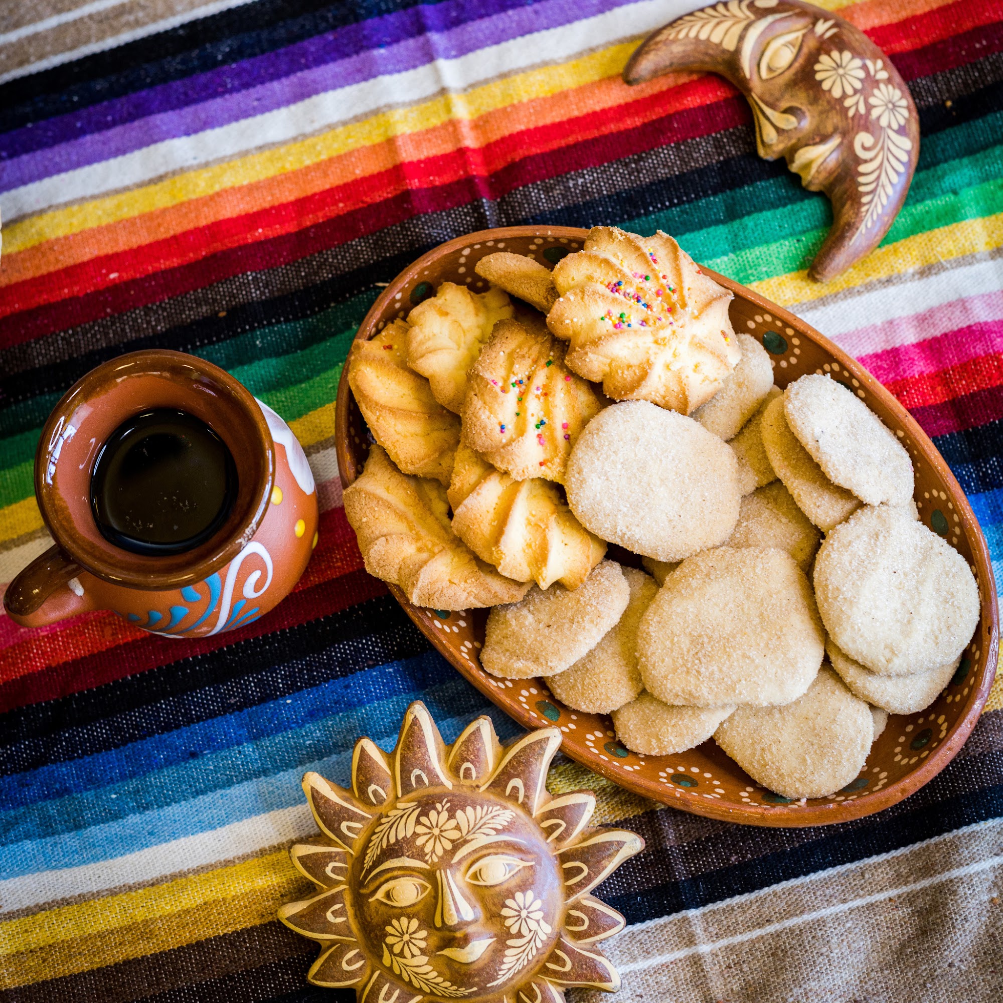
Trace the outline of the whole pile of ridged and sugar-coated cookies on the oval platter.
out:
[[[416,605],[491,607],[483,668],[611,713],[636,752],[713,736],[785,797],[844,787],[978,622],[905,447],[827,375],[774,386],[665,234],[596,227],[553,272],[503,252],[475,271],[486,292],[443,282],[349,356],[367,570]]]

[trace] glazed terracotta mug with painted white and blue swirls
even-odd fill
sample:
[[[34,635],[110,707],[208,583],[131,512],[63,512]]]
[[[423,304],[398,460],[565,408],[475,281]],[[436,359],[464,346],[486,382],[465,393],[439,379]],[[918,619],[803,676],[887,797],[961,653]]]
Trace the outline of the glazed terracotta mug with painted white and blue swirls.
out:
[[[170,556],[116,547],[90,508],[91,468],[107,437],[159,407],[205,421],[230,449],[239,481],[215,536]],[[35,497],[55,546],[7,588],[4,606],[24,627],[113,610],[168,637],[219,634],[287,596],[317,544],[317,491],[289,425],[218,366],[183,352],[132,352],[75,383],[42,428]]]

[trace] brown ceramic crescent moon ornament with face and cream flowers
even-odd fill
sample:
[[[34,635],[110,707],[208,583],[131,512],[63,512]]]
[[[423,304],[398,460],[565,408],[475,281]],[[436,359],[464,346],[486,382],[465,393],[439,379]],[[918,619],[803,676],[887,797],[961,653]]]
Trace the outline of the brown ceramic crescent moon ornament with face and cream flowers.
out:
[[[798,0],[721,0],[634,53],[624,79],[711,70],[748,99],[756,146],[832,203],[808,274],[834,278],[878,246],[909,191],[920,124],[888,57],[849,21]]]

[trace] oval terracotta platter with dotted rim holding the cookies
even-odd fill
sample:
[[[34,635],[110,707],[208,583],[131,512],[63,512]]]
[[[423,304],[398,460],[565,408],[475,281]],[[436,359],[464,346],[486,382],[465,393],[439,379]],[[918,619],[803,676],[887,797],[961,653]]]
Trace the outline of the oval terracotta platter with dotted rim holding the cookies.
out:
[[[389,321],[450,281],[482,291],[473,267],[495,251],[524,254],[548,268],[581,248],[587,232],[567,227],[484,230],[429,251],[390,283],[359,328],[371,338]],[[706,271],[706,270],[705,270]],[[679,755],[643,756],[617,741],[609,717],[564,706],[545,680],[495,679],[480,668],[486,610],[447,613],[412,606],[391,592],[435,648],[485,696],[527,728],[555,724],[563,750],[628,790],[684,811],[752,825],[820,825],[859,818],[918,790],[961,748],[978,720],[996,672],[999,643],[996,583],[986,542],[961,486],[934,444],[906,409],[870,373],[786,310],[750,289],[707,271],[734,293],[731,322],[754,335],[774,361],[781,388],[803,373],[826,372],[854,392],[906,444],[916,471],[915,499],[924,524],[961,553],[974,572],[981,616],[961,665],[936,703],[919,714],[893,715],[860,776],[831,797],[790,801],[766,790],[712,739]],[[361,473],[371,441],[344,372],[338,387],[336,446],[343,485]],[[622,558],[614,551],[612,556]]]

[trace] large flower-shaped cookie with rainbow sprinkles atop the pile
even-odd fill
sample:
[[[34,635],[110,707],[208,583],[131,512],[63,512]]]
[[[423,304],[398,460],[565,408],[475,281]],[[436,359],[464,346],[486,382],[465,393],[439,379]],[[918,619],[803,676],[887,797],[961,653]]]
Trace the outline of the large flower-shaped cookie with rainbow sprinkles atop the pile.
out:
[[[593,227],[582,251],[554,269],[561,293],[550,329],[570,341],[568,366],[616,400],[650,400],[689,414],[740,357],[731,294],[667,234]]]

